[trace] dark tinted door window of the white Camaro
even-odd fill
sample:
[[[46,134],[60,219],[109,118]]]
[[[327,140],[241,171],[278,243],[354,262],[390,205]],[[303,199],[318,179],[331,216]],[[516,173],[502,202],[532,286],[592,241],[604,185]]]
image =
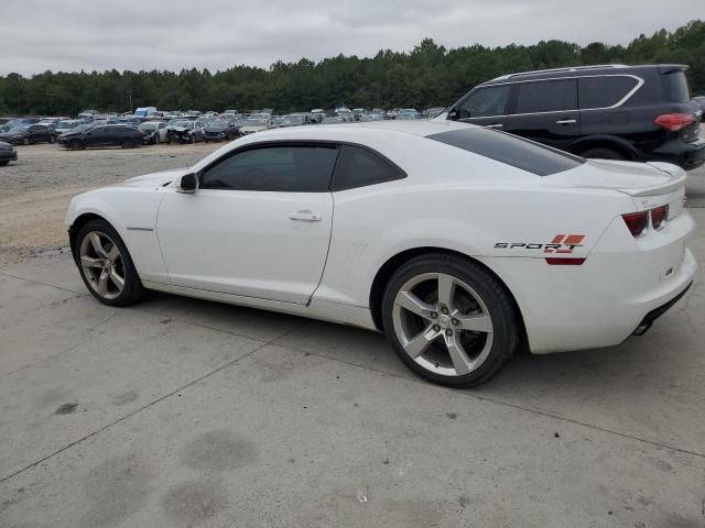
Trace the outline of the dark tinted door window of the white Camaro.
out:
[[[321,193],[328,190],[335,146],[282,145],[239,152],[207,168],[200,188]]]

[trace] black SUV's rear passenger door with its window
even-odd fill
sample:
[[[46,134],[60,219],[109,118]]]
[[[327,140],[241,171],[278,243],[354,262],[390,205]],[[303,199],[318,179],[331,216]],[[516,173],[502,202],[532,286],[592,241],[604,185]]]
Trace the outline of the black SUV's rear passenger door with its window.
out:
[[[567,148],[581,133],[577,79],[518,84],[505,131],[556,148]]]

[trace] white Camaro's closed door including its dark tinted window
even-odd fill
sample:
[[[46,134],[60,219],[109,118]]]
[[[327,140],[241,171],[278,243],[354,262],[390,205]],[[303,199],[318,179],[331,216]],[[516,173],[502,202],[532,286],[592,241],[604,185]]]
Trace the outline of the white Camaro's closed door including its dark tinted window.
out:
[[[158,234],[173,285],[306,304],[333,226],[338,150],[267,143],[226,154],[194,194],[169,189]]]

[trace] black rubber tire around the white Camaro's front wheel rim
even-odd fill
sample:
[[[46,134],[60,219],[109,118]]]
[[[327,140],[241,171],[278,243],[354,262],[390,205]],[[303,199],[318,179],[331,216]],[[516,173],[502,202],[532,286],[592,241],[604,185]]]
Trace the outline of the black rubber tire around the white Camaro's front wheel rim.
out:
[[[84,239],[94,232],[105,233],[110,240],[115,242],[115,244],[118,246],[118,250],[120,251],[122,271],[124,275],[124,286],[120,295],[112,299],[105,298],[95,290],[80,264],[80,246],[84,242]],[[142,280],[140,280],[137,268],[134,267],[134,263],[132,262],[132,257],[130,256],[124,242],[122,242],[122,239],[112,228],[112,226],[110,226],[105,220],[90,220],[83,228],[80,228],[76,237],[73,253],[75,256],[76,265],[78,266],[78,272],[80,273],[80,278],[83,278],[86,288],[88,288],[88,292],[90,292],[90,294],[104,305],[118,307],[129,306],[139,301],[144,296],[144,286],[142,286]]]

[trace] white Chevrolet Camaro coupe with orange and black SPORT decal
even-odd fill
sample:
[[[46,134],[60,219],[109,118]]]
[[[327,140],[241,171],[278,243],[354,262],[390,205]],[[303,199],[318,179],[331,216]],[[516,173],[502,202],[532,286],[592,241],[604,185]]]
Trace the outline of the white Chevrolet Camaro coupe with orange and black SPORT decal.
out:
[[[463,123],[300,127],[79,195],[66,223],[106,305],[155,289],[379,330],[468,387],[519,346],[616,345],[680,299],[685,179]]]

